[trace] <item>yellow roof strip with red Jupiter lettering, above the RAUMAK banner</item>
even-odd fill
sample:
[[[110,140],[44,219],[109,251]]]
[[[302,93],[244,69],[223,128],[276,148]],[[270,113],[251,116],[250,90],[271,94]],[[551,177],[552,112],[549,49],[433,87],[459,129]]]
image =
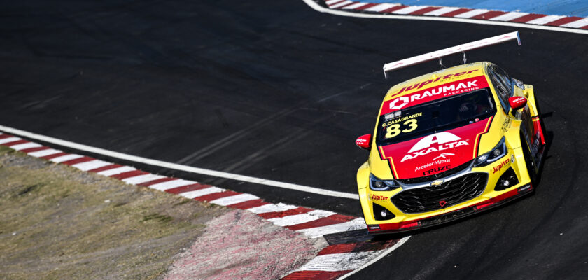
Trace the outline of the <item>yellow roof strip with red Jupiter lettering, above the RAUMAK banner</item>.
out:
[[[487,64],[489,64],[489,62],[463,64],[406,80],[391,87],[390,90],[388,90],[386,93],[384,101],[407,94],[412,94],[413,92],[419,90],[426,90],[430,87],[443,85],[445,83],[463,80],[472,76],[484,76],[484,68]]]

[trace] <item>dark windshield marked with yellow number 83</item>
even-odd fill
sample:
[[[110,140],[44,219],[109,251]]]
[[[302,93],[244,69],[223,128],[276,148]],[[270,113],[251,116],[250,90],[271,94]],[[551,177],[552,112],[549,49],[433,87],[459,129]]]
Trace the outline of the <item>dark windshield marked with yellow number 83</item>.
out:
[[[380,116],[377,144],[413,139],[432,131],[449,130],[496,113],[488,87]]]

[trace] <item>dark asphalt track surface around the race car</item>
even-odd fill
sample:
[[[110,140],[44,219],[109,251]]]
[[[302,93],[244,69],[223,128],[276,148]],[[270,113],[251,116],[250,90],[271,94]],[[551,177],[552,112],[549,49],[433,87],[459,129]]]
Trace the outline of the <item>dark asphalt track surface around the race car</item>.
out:
[[[384,92],[435,71],[385,62],[517,29],[317,13],[302,1],[12,1],[0,123],[195,167],[356,192]],[[552,143],[534,195],[417,232],[353,279],[586,279],[588,37],[518,29],[468,53],[535,85]],[[444,59],[452,65],[461,57]],[[357,200],[144,167],[360,215]],[[151,168],[151,169],[150,169]]]

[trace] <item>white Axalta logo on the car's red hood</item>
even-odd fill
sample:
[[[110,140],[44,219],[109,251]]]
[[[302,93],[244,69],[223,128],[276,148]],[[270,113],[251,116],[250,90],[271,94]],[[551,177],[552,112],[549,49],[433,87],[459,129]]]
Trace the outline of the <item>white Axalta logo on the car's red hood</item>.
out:
[[[412,146],[407,155],[405,155],[404,158],[400,160],[400,162],[404,162],[405,160],[412,160],[413,158],[419,157],[420,155],[426,155],[428,153],[437,151],[444,151],[464,145],[469,144],[451,132],[439,132],[431,134],[416,142],[416,144]]]

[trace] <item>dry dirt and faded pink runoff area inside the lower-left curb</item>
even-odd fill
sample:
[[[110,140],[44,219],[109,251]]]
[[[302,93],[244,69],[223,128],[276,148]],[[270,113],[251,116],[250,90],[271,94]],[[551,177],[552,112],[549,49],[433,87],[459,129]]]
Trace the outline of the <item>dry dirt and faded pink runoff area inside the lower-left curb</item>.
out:
[[[0,279],[279,279],[325,246],[0,147]]]

